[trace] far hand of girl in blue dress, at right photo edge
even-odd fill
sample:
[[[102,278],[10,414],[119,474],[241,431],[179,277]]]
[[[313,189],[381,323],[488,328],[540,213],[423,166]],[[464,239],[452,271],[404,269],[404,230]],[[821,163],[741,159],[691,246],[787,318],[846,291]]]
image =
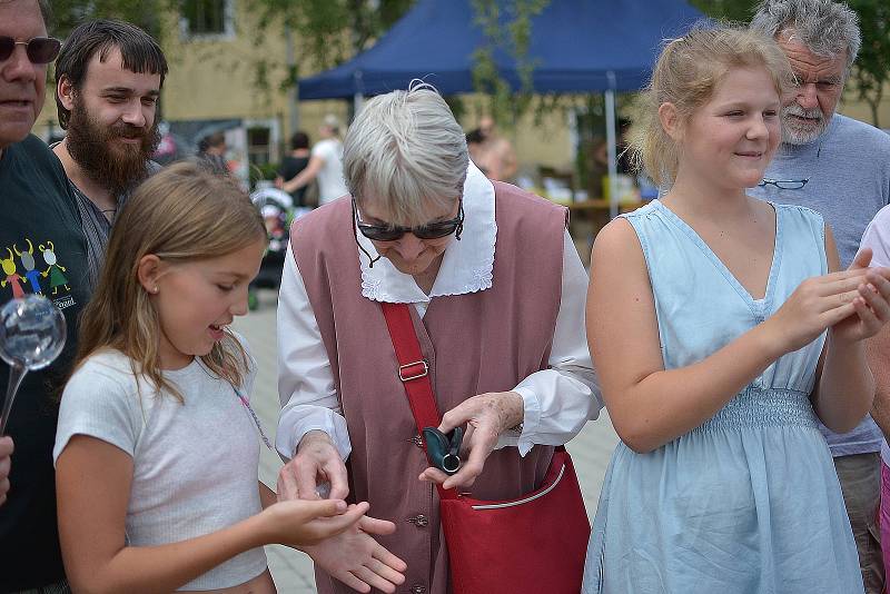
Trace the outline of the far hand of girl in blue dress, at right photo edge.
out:
[[[871,249],[866,248],[857,254],[849,270],[862,270],[864,277],[857,286],[859,294],[852,305],[856,316],[849,316],[831,327],[834,341],[856,343],[871,338],[881,327],[890,321],[890,269],[868,268],[871,261]]]

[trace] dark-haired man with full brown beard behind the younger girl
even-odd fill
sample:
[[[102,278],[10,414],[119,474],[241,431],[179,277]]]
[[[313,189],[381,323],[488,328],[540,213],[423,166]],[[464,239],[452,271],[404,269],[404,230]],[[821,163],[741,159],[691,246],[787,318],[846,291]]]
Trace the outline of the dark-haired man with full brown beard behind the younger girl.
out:
[[[166,75],[158,43],[121,21],[78,26],[56,62],[56,107],[68,135],[53,151],[78,199],[93,286],[118,210],[159,169],[150,158],[160,141],[155,116]]]

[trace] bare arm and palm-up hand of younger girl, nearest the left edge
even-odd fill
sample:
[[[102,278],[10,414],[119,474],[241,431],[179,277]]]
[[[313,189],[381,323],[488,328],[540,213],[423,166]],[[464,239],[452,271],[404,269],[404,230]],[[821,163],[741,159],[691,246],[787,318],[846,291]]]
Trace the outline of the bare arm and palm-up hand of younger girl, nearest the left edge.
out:
[[[360,504],[344,513],[342,501],[285,502],[197,538],[126,546],[129,455],[107,442],[76,435],[57,461],[56,482],[62,556],[76,592],[171,592],[250,548],[318,543],[355,524],[367,509]]]

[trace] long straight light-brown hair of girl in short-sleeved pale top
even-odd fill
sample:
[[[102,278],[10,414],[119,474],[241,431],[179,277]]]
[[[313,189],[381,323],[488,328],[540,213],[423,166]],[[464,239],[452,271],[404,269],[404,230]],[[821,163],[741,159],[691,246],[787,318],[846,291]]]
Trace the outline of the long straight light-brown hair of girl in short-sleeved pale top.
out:
[[[160,320],[139,283],[139,261],[149,254],[171,264],[216,258],[265,238],[259,212],[228,177],[179,162],[149,178],[115,222],[99,284],[80,319],[75,368],[98,350],[120,350],[137,380],[146,377],[181,402],[160,370]],[[249,365],[228,331],[200,359],[234,386],[241,385]]]

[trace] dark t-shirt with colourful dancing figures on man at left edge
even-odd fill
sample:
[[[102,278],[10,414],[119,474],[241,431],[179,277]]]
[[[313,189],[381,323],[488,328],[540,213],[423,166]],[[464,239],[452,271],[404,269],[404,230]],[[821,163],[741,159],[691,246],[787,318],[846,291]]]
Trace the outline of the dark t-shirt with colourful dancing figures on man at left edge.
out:
[[[77,348],[77,316],[89,298],[86,239],[61,164],[29,136],[0,155],[0,306],[41,293],[65,314],[59,358],[30,372],[7,430],[16,443],[8,499],[0,505],[0,593],[65,576],[56,521],[52,446],[58,398]],[[9,366],[0,363],[0,396]]]

